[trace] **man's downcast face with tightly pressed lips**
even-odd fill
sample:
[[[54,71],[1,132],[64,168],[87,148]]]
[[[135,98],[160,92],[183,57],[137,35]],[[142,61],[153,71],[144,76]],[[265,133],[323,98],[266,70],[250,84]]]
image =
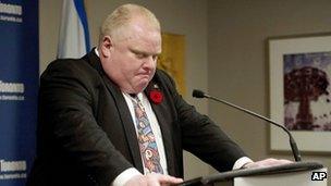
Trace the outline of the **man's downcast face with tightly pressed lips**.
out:
[[[122,91],[142,92],[156,72],[161,53],[160,32],[144,21],[133,21],[121,30],[117,39],[109,38],[109,55],[100,54],[102,67]]]

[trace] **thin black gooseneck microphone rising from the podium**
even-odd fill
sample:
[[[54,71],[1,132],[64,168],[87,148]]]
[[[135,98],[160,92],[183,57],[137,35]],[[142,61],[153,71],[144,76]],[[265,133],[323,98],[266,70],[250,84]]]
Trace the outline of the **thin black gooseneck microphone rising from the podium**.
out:
[[[249,115],[257,116],[257,117],[259,117],[259,119],[261,119],[261,120],[263,120],[263,121],[267,121],[267,122],[269,122],[269,123],[271,123],[271,124],[273,124],[273,125],[275,125],[275,126],[278,126],[278,127],[281,127],[282,129],[284,129],[284,131],[287,133],[287,135],[289,135],[289,137],[290,137],[290,146],[291,146],[291,149],[292,149],[292,153],[293,153],[293,156],[294,156],[294,160],[295,160],[296,162],[302,161],[302,156],[301,156],[301,153],[299,153],[299,151],[298,151],[298,149],[297,149],[297,146],[296,146],[296,142],[295,142],[293,136],[291,135],[290,131],[289,131],[286,127],[284,127],[283,125],[277,123],[277,122],[274,122],[274,121],[272,121],[272,120],[270,120],[270,119],[268,119],[268,117],[266,117],[266,116],[262,116],[262,115],[260,115],[260,114],[257,114],[257,113],[255,113],[255,112],[253,112],[253,111],[249,111],[249,110],[247,110],[247,109],[244,109],[244,108],[241,108],[241,107],[238,107],[238,106],[235,106],[235,104],[233,104],[233,103],[231,103],[231,102],[228,102],[228,101],[225,101],[225,100],[218,99],[218,98],[214,98],[214,97],[212,97],[212,96],[209,96],[209,95],[205,94],[205,92],[201,91],[201,90],[194,89],[193,92],[192,92],[192,96],[195,97],[195,98],[207,98],[207,99],[211,99],[211,100],[214,100],[214,101],[224,103],[224,104],[230,106],[230,107],[232,107],[232,108],[235,108],[235,109],[237,109],[237,110],[240,110],[240,111],[243,111],[243,112],[245,112],[245,113],[247,113],[247,114],[249,114]]]

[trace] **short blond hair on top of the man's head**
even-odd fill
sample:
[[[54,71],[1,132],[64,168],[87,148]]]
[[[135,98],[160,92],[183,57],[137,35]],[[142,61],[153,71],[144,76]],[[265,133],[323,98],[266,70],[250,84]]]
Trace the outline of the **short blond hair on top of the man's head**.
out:
[[[100,29],[99,44],[102,42],[105,36],[118,37],[121,34],[119,30],[127,26],[136,16],[146,18],[151,26],[158,30],[161,29],[158,18],[148,9],[137,4],[123,4],[105,20]]]

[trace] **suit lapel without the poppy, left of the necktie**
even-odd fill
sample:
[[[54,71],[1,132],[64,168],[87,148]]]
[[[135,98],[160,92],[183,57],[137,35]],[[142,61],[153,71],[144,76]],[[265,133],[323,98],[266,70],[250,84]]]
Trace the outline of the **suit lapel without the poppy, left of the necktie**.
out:
[[[113,100],[115,102],[115,107],[119,111],[119,115],[120,115],[121,121],[122,121],[122,125],[123,125],[123,128],[124,128],[125,136],[126,136],[126,139],[127,139],[127,144],[128,144],[128,147],[130,147],[133,164],[138,171],[144,173],[143,162],[142,162],[142,158],[140,158],[140,151],[139,151],[139,146],[138,146],[138,140],[137,140],[137,137],[136,137],[134,123],[132,121],[132,116],[131,116],[130,110],[127,108],[126,101],[125,101],[125,99],[122,95],[122,91],[118,88],[118,86],[115,86],[114,83],[112,83],[108,78],[108,76],[106,75],[106,73],[102,70],[100,60],[95,54],[95,52],[90,52],[90,58],[89,59],[90,59],[89,60],[90,62],[95,63],[93,65],[95,66],[95,69],[97,71],[99,71],[99,74],[101,75],[108,90],[110,91],[111,96],[113,97]]]

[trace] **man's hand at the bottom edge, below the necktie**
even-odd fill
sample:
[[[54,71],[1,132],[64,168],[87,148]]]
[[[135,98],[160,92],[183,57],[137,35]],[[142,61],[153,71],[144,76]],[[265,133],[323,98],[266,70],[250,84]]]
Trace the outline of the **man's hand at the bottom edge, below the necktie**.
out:
[[[163,174],[136,175],[125,183],[125,186],[166,186],[182,183],[182,178]]]

